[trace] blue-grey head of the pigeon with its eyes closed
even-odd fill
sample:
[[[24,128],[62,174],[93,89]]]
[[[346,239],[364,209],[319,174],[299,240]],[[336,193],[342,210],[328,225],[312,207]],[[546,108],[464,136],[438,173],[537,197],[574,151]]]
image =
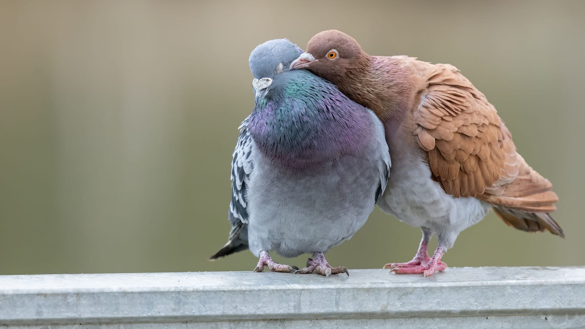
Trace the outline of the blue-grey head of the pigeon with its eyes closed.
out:
[[[302,53],[288,39],[274,39],[257,46],[250,54],[250,70],[256,100],[266,97],[270,90],[284,83],[290,64]]]

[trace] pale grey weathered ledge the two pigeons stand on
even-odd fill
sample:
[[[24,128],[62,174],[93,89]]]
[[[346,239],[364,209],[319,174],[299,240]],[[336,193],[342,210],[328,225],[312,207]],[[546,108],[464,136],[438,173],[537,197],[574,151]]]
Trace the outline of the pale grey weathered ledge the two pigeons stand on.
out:
[[[350,274],[0,276],[0,326],[585,328],[585,267]]]

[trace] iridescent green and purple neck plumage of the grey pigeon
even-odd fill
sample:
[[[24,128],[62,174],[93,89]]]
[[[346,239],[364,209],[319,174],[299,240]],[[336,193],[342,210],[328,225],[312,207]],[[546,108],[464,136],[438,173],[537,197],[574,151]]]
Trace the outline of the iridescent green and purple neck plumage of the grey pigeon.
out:
[[[264,156],[292,167],[315,166],[368,142],[371,114],[325,80],[311,82],[313,88],[294,84],[256,103],[248,129]]]

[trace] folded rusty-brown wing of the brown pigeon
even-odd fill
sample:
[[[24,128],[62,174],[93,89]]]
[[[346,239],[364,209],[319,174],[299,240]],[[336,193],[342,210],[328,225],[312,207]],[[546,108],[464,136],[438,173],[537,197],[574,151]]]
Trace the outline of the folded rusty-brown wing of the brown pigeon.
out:
[[[415,133],[428,152],[433,179],[446,193],[514,210],[555,210],[552,185],[516,152],[486,97],[449,64],[428,64],[424,76]]]

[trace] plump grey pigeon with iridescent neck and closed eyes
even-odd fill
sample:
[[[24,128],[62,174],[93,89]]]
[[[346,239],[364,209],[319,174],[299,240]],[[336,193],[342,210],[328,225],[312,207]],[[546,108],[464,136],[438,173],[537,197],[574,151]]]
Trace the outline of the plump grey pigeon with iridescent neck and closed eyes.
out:
[[[333,268],[324,253],[351,238],[386,188],[390,155],[372,111],[335,85],[288,67],[303,51],[287,39],[250,54],[254,110],[240,126],[233,152],[229,241],[216,259],[250,248],[254,272],[321,275]],[[307,268],[274,262],[312,253]]]

